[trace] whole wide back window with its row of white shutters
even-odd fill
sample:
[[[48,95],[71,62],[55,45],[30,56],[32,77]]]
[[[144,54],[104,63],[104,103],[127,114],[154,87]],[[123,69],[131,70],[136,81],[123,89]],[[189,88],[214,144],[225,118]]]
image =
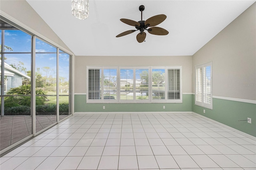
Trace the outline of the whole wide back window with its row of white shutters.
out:
[[[181,66],[90,66],[87,103],[182,103],[181,75]]]

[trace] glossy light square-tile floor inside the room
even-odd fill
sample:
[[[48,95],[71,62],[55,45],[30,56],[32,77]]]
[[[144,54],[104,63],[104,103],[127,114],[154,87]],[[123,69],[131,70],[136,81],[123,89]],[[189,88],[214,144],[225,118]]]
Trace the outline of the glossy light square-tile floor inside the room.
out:
[[[194,114],[79,114],[0,158],[1,170],[255,170],[256,141]]]

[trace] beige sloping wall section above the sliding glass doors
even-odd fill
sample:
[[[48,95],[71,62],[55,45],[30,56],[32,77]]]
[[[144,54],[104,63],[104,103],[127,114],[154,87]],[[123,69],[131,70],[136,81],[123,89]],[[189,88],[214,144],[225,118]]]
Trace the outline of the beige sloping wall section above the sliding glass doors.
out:
[[[26,2],[26,0],[1,0],[0,10],[1,12],[8,14],[8,16],[14,18],[15,20],[18,20],[22,24],[42,34],[44,37],[48,38],[52,42],[71,51],[66,46],[66,44],[62,42],[62,40],[44,22],[44,20],[34,11],[34,9],[28,4],[28,2]],[[4,13],[0,13],[0,15],[4,16]],[[7,18],[8,16],[4,17]]]

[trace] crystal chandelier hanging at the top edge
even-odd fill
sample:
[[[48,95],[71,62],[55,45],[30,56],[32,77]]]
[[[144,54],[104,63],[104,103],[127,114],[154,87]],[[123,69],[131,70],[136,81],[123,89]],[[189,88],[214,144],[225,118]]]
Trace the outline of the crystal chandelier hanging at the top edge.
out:
[[[89,16],[89,0],[71,0],[72,15],[80,20]]]

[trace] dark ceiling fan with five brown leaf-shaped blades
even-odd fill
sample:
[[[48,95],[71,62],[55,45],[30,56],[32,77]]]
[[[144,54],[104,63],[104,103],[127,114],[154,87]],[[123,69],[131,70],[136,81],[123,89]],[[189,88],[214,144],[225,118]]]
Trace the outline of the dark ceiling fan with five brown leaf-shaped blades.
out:
[[[166,19],[166,15],[160,14],[160,15],[152,16],[148,18],[146,21],[143,21],[142,11],[144,11],[144,9],[145,9],[144,5],[139,6],[139,10],[141,11],[141,20],[138,22],[129,20],[129,19],[124,19],[124,18],[120,19],[120,21],[122,21],[125,24],[128,24],[130,26],[135,26],[136,30],[128,30],[128,31],[122,32],[121,34],[118,34],[116,37],[126,36],[128,34],[131,34],[133,32],[140,30],[140,33],[136,36],[136,38],[139,43],[142,43],[146,38],[146,32],[144,32],[144,30],[147,30],[148,33],[150,34],[154,34],[158,36],[165,36],[169,33],[164,28],[155,27],[156,25],[160,24]],[[151,28],[148,28],[148,27],[151,27]]]

